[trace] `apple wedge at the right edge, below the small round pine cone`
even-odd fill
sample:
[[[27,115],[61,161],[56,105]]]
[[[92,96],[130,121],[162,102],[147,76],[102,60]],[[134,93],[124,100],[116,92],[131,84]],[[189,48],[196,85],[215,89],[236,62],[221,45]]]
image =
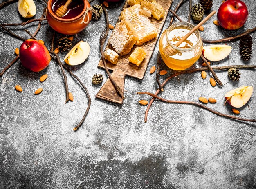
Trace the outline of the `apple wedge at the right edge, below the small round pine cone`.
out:
[[[249,101],[252,96],[252,91],[252,86],[242,86],[231,90],[225,94],[226,102],[235,108],[240,108]]]

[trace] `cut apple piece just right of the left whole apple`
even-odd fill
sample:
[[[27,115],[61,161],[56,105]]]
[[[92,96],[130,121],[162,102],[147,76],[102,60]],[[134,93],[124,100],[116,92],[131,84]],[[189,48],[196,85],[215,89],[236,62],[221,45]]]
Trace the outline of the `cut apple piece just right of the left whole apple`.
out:
[[[70,66],[82,64],[90,53],[90,46],[87,42],[81,41],[76,44],[65,56],[64,61]]]

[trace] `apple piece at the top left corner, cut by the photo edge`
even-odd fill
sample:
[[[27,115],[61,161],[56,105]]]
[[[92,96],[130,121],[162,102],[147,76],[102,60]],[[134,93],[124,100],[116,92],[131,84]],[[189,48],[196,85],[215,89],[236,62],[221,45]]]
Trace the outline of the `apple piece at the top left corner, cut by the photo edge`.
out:
[[[36,5],[33,0],[19,0],[18,11],[24,18],[31,18],[36,15]]]

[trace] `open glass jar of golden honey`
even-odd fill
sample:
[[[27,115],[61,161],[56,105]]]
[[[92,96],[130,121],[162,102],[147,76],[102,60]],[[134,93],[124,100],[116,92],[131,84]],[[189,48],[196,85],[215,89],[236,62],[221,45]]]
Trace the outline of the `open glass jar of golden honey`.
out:
[[[192,33],[178,47],[175,46],[194,27],[189,22],[176,22],[162,33],[159,40],[159,51],[164,63],[169,68],[173,70],[185,70],[199,59],[202,54],[203,42],[198,30]],[[173,48],[176,53],[170,55],[168,48]]]

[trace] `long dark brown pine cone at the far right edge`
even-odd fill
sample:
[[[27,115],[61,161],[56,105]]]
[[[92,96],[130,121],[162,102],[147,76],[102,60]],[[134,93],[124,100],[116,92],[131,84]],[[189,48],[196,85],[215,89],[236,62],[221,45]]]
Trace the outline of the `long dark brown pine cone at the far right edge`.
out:
[[[240,38],[240,55],[243,60],[249,60],[252,57],[252,37],[244,35]]]

